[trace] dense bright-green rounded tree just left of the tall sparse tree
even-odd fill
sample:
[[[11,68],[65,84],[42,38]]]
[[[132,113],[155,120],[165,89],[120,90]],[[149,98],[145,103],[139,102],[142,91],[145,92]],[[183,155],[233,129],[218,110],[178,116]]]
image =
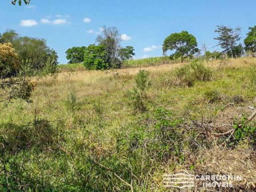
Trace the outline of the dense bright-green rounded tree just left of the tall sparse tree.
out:
[[[88,70],[105,70],[109,68],[107,52],[103,45],[91,44],[84,51],[84,66]]]

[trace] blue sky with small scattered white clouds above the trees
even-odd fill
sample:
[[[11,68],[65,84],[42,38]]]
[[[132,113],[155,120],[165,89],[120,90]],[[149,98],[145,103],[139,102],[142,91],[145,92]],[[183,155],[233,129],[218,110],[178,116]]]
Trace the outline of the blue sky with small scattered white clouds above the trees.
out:
[[[0,0],[0,32],[14,29],[22,36],[44,38],[60,63],[72,46],[95,42],[100,27],[116,26],[124,41],[134,46],[135,58],[161,56],[162,42],[173,32],[187,30],[198,46],[216,45],[214,29],[224,24],[256,25],[255,0],[32,0],[30,6],[13,6]]]

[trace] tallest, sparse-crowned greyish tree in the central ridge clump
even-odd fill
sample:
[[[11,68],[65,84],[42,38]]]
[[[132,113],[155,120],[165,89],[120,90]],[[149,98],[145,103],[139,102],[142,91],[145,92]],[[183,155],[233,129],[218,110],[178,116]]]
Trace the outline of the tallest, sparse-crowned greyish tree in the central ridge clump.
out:
[[[120,68],[121,66],[119,57],[121,41],[121,34],[116,27],[107,28],[103,26],[102,34],[96,38],[96,42],[105,48],[106,62],[109,64],[110,68]]]

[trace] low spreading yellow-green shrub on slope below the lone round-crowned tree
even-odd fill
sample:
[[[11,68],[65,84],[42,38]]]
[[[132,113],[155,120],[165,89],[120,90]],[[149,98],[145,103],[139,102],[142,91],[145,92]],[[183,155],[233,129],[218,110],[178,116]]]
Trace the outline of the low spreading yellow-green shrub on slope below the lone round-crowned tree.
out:
[[[175,70],[178,84],[193,86],[195,81],[209,81],[212,78],[212,71],[202,64],[201,60],[195,60],[190,64]]]

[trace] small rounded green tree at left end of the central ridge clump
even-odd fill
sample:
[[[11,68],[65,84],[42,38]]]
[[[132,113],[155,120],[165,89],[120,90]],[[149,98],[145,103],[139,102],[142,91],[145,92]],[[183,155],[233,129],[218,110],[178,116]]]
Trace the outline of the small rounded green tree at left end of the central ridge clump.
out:
[[[84,50],[85,46],[72,47],[66,51],[66,58],[69,60],[68,63],[81,63],[84,61]]]

